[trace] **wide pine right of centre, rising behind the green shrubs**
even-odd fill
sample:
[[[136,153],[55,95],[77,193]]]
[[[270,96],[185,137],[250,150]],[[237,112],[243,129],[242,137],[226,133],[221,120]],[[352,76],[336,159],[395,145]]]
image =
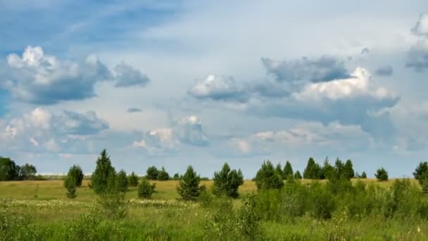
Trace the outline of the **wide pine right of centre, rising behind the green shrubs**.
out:
[[[258,190],[281,188],[284,186],[282,176],[275,171],[270,161],[263,161],[262,167],[256,174]]]

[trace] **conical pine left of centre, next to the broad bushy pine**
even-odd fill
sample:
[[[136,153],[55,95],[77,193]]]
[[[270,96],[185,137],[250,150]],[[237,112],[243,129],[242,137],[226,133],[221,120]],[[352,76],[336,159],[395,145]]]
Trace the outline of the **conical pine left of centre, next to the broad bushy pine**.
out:
[[[193,167],[187,167],[186,173],[184,173],[182,180],[180,180],[177,186],[177,192],[184,200],[196,200],[201,194],[201,191],[205,189],[205,186],[199,185],[201,177],[196,174]]]

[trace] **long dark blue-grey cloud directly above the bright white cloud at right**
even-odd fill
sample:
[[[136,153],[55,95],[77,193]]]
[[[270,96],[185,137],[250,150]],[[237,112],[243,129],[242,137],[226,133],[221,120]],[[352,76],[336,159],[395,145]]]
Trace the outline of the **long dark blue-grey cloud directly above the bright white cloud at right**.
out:
[[[344,61],[332,56],[303,57],[294,61],[262,58],[262,62],[267,73],[274,75],[279,82],[325,82],[349,77]]]

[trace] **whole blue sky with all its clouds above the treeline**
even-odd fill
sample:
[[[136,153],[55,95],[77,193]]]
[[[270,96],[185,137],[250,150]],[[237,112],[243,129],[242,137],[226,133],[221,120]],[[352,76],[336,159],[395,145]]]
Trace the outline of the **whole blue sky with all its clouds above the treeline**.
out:
[[[428,157],[428,1],[0,0],[0,156],[246,178]]]

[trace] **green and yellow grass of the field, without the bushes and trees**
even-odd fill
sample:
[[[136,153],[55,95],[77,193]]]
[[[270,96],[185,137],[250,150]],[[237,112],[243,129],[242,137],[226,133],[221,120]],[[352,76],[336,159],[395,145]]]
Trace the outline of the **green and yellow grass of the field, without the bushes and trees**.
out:
[[[394,180],[363,182],[389,190]],[[419,187],[416,180],[410,182]],[[130,200],[127,216],[109,220],[94,211],[98,210],[94,207],[99,198],[88,187],[88,180],[77,189],[77,198],[73,200],[65,197],[62,180],[0,182],[0,240],[428,240],[428,221],[415,217],[412,206],[405,205],[403,214],[391,218],[382,213],[351,217],[348,211],[338,208],[332,218],[320,220],[310,214],[285,215],[280,206],[275,206],[282,202],[275,192],[261,199],[262,206],[268,204],[263,210],[273,213],[260,219],[259,235],[244,236],[245,228],[253,223],[251,214],[242,213],[245,209],[241,209],[241,199],[246,194],[258,193],[253,181],[245,180],[239,187],[241,198],[233,200],[234,211],[228,211],[227,202],[207,208],[201,203],[178,201],[178,181],[154,183],[157,192],[149,200],[137,199],[136,188],[130,188],[126,194]],[[208,190],[213,185],[213,181],[201,183]],[[284,217],[274,218],[276,210]]]

